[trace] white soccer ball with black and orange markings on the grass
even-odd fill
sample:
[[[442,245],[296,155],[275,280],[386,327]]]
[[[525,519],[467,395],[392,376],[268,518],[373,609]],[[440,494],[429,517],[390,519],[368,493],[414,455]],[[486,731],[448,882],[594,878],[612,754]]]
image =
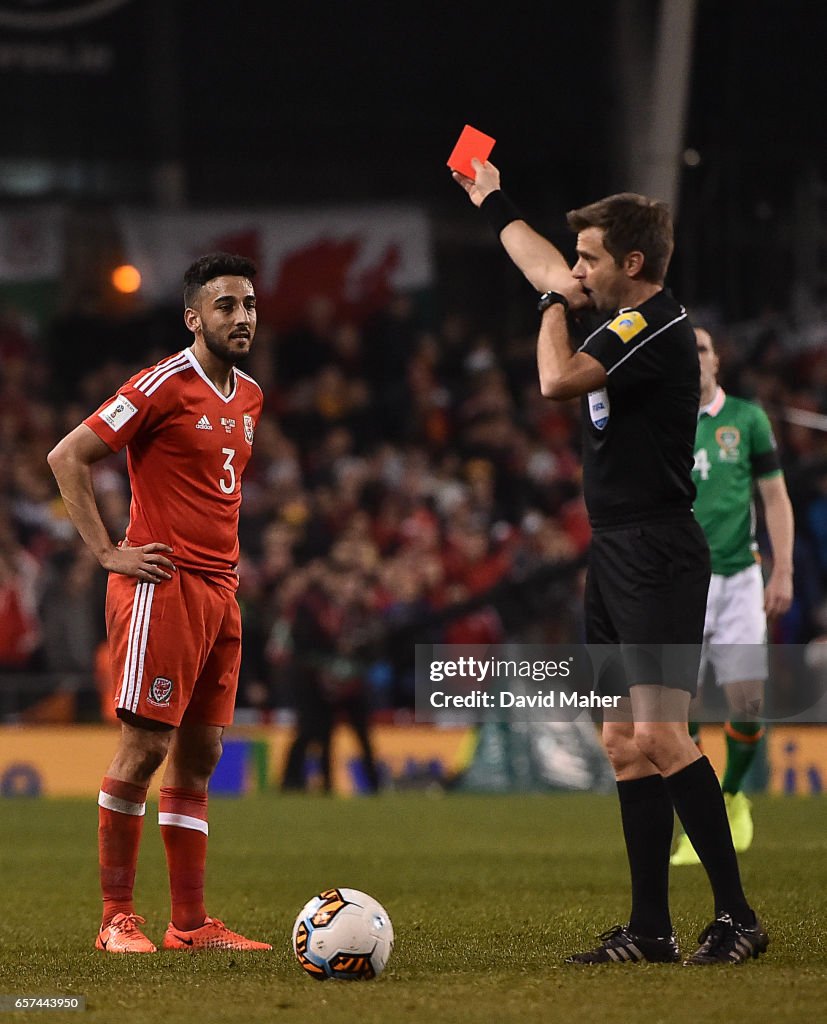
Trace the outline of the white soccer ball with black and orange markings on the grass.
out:
[[[387,910],[358,889],[325,889],[299,911],[293,951],[311,978],[377,978],[393,949]]]

